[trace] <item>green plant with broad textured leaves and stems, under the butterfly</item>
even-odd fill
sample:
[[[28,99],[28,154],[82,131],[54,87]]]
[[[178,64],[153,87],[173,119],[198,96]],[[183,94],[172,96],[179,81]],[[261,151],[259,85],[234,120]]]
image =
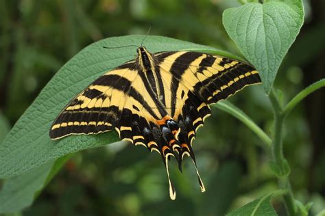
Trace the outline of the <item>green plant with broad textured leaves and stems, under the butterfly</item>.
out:
[[[287,105],[282,105],[278,91],[272,90],[272,86],[278,67],[302,25],[302,3],[294,0],[264,1],[263,4],[258,1],[242,2],[243,6],[224,12],[224,25],[230,38],[236,42],[243,55],[261,72],[265,93],[269,94],[269,100],[274,107],[275,121],[272,138],[269,138],[243,111],[234,105],[221,102],[214,107],[223,109],[241,120],[265,143],[266,149],[271,151],[274,157],[273,161],[269,163],[269,167],[278,178],[280,190],[267,194],[263,198],[235,210],[230,215],[238,213],[257,215],[261,211],[275,215],[276,213],[269,204],[272,195],[283,196],[289,215],[303,215],[308,212],[309,204],[306,206],[298,204],[299,202],[294,198],[290,188],[288,178],[290,168],[282,152],[283,122],[289,111],[308,94],[323,87],[325,80],[307,87]],[[250,16],[252,13],[254,16]],[[269,18],[269,20],[265,18]],[[268,23],[271,20],[274,23]],[[286,27],[290,28],[286,29]],[[245,38],[250,40],[245,40]],[[134,57],[133,49],[119,49],[116,53],[108,53],[101,49],[102,46],[140,44],[142,39],[143,36],[109,38],[87,46],[64,65],[43,89],[33,105],[29,107],[0,145],[0,178],[8,178],[0,193],[0,213],[20,211],[23,207],[31,204],[38,195],[38,191],[43,189],[53,175],[58,172],[68,159],[69,154],[118,141],[114,132],[88,137],[72,136],[60,141],[51,141],[48,137],[48,130],[51,121],[66,105],[69,98],[72,98],[75,93],[82,90],[104,71]],[[261,44],[256,46],[256,42],[261,42]],[[229,55],[207,46],[163,37],[149,36],[145,44],[152,52],[165,51],[166,49],[186,49]],[[230,55],[230,57],[234,56]],[[87,61],[84,61],[85,58]],[[56,161],[54,162],[54,160]],[[33,187],[29,185],[30,181],[33,181]],[[17,200],[18,198],[21,200]]]

